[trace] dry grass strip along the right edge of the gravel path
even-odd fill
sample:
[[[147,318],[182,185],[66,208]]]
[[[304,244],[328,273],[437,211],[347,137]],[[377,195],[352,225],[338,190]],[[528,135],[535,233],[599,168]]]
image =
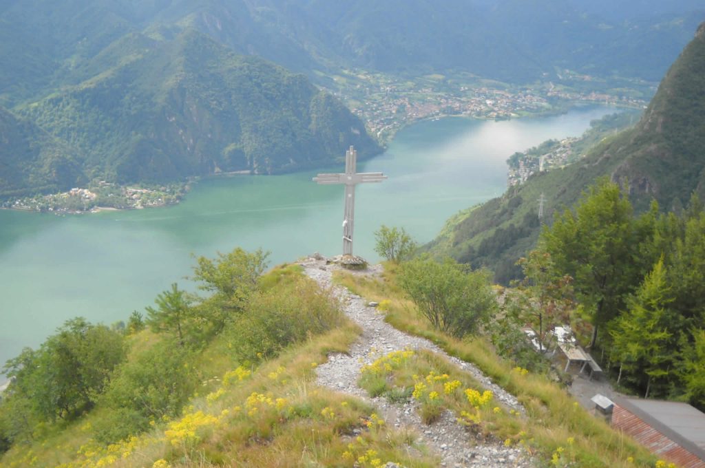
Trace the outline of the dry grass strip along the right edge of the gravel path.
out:
[[[432,329],[419,316],[414,305],[401,294],[395,281],[397,268],[386,264],[385,273],[379,280],[344,272],[336,272],[334,278],[337,283],[367,300],[388,301],[388,323],[412,335],[427,338],[449,355],[475,364],[495,383],[515,395],[525,407],[525,418],[482,419],[490,421],[482,425],[483,431],[489,431],[501,440],[509,439],[508,443],[520,443],[532,455],[546,462],[556,456],[558,466],[570,462],[576,462],[580,467],[654,466],[656,459],[645,448],[622,433],[613,431],[601,419],[593,417],[563,388],[548,381],[545,376],[514,369],[510,363],[496,355],[484,338],[458,340]],[[443,367],[441,362],[434,365],[436,373],[450,375],[448,368]],[[400,388],[409,386],[406,374],[408,371],[395,372],[392,381],[398,382],[396,386]],[[456,374],[453,376],[460,379]],[[476,385],[470,381],[463,382],[464,385],[466,383]],[[382,393],[390,393],[392,387],[388,383]],[[455,407],[455,403],[444,404]]]

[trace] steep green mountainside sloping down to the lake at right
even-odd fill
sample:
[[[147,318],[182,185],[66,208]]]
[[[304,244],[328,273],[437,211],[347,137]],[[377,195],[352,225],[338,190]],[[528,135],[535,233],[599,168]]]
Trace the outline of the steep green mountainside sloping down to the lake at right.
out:
[[[607,137],[562,169],[538,173],[502,197],[455,216],[428,248],[473,266],[488,266],[508,283],[520,274],[519,257],[534,247],[541,221],[551,223],[596,178],[608,176],[628,191],[637,211],[656,199],[679,211],[692,192],[705,199],[705,23],[661,81],[633,128]]]

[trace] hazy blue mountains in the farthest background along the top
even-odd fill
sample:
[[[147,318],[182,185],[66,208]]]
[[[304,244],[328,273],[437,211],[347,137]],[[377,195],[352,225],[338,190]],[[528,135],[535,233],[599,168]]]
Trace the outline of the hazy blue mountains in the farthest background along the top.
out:
[[[687,43],[697,0],[0,1],[0,104],[64,85],[75,66],[130,32],[194,28],[239,54],[325,82],[340,68],[465,72],[526,83],[656,81]]]

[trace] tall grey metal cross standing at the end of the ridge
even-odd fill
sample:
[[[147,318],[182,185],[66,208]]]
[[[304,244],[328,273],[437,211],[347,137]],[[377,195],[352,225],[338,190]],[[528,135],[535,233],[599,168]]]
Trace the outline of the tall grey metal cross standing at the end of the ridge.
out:
[[[357,152],[353,147],[345,152],[345,173],[319,174],[314,182],[319,184],[345,184],[345,217],[343,218],[343,254],[353,254],[353,226],[355,223],[355,185],[367,182],[381,182],[386,179],[381,172],[355,173]]]

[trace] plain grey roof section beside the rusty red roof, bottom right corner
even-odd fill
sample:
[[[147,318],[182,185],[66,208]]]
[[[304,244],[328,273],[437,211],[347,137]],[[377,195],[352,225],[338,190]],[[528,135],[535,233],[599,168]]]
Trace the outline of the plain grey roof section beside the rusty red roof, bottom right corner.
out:
[[[705,460],[705,413],[687,403],[639,398],[614,400],[670,440]]]

